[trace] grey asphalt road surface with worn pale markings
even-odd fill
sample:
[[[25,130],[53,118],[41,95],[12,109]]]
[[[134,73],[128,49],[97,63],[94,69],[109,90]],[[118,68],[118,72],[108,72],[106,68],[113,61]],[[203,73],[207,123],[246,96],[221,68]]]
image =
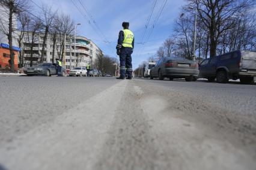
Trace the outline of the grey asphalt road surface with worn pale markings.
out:
[[[0,77],[0,170],[256,169],[256,86]]]

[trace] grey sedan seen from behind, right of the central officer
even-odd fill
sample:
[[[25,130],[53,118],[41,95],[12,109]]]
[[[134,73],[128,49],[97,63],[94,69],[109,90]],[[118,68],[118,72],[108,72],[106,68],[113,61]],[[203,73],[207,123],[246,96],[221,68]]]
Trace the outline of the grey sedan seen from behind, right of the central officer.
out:
[[[186,81],[195,81],[198,77],[198,63],[181,57],[163,57],[159,59],[150,71],[150,78],[185,78]]]

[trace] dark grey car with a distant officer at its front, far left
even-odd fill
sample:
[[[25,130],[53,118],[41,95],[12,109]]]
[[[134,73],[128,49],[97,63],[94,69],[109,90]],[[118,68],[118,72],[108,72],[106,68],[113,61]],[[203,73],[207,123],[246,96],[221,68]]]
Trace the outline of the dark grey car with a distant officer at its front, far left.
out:
[[[56,75],[58,74],[57,67],[55,63],[40,63],[36,66],[31,66],[23,69],[24,73],[28,76],[32,75]],[[66,68],[62,67],[61,75],[65,76],[67,73]]]

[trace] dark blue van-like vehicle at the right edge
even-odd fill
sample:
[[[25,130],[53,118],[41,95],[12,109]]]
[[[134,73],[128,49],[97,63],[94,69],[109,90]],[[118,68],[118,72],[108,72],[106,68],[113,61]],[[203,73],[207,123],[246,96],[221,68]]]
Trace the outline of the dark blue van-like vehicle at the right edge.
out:
[[[228,80],[240,79],[241,83],[250,84],[256,77],[256,51],[232,51],[203,60],[200,63],[199,77],[208,81],[227,83]]]

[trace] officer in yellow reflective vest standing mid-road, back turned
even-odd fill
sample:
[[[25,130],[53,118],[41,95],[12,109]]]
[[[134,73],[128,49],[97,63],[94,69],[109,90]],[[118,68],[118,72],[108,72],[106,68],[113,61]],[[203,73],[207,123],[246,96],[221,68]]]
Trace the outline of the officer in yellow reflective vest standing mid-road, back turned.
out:
[[[129,22],[122,23],[123,30],[119,32],[117,42],[117,55],[120,57],[120,77],[117,79],[126,78],[132,79],[132,52],[134,48],[133,32],[129,30]]]

